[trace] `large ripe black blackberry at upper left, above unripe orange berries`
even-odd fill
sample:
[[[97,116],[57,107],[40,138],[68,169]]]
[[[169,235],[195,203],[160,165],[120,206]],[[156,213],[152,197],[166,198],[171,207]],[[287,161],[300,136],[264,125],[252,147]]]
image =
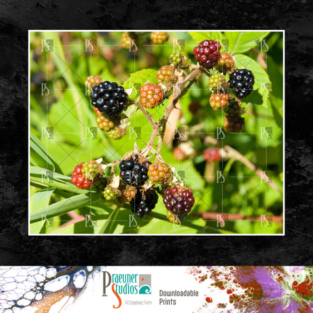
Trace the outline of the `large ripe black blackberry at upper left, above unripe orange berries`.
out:
[[[127,107],[128,95],[118,83],[103,81],[93,87],[90,93],[91,104],[108,118],[120,115]]]

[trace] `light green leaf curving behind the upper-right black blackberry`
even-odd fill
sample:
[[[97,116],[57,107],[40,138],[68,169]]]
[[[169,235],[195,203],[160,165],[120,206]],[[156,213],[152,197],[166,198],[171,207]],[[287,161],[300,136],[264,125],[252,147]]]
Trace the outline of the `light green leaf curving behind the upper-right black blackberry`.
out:
[[[263,104],[265,104],[265,106],[267,107],[266,102],[271,90],[271,81],[264,68],[261,65],[259,65],[259,63],[257,63],[255,60],[250,58],[250,56],[245,56],[244,54],[236,54],[235,62],[236,67],[238,68],[245,67],[247,70],[253,72],[253,75],[255,76],[255,85],[253,86],[253,89],[259,90],[259,94],[262,95]],[[247,103],[252,102],[249,101],[251,97],[252,93],[251,95],[246,97],[244,101]]]

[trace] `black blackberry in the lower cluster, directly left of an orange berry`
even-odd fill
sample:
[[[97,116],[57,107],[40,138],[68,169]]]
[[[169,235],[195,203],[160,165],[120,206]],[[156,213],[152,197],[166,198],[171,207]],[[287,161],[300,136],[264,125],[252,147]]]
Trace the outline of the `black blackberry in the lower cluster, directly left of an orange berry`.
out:
[[[145,184],[149,178],[147,172],[147,166],[139,163],[137,154],[120,162],[120,178],[125,185],[141,186]]]

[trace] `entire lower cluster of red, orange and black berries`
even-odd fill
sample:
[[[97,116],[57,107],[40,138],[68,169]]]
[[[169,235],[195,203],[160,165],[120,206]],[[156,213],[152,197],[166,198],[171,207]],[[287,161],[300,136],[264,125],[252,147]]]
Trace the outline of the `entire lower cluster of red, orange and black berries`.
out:
[[[72,183],[81,189],[91,188],[95,184],[95,189],[102,192],[106,200],[128,202],[138,218],[154,209],[159,198],[157,192],[163,195],[167,211],[172,211],[171,221],[174,219],[177,223],[191,211],[195,203],[193,192],[186,186],[172,186],[172,169],[168,164],[151,163],[143,156],[134,154],[122,160],[119,167],[118,188],[109,184],[110,179],[103,177],[101,166],[93,160],[75,166]],[[148,179],[150,183],[146,185]]]

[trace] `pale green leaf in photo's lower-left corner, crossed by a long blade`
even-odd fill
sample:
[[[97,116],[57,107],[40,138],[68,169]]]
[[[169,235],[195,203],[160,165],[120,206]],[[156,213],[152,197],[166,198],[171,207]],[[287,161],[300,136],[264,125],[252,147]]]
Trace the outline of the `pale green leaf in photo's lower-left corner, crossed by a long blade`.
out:
[[[51,198],[52,193],[54,192],[54,188],[47,188],[47,189],[42,189],[40,191],[37,191],[36,193],[33,193],[31,195],[30,199],[30,209],[33,211],[34,209],[38,207],[47,207]],[[31,234],[45,234],[46,232],[46,224],[44,223],[42,225],[42,221],[40,220],[39,222],[33,223],[30,225],[30,230],[29,232]]]

